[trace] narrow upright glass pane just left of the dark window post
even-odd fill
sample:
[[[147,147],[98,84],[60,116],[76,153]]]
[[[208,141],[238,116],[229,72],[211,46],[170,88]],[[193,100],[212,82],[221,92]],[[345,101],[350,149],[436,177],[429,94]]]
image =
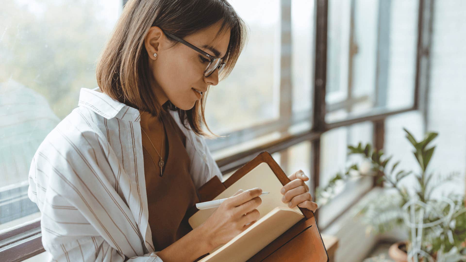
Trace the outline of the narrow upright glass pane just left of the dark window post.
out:
[[[314,1],[291,1],[293,111],[311,109],[314,82]]]

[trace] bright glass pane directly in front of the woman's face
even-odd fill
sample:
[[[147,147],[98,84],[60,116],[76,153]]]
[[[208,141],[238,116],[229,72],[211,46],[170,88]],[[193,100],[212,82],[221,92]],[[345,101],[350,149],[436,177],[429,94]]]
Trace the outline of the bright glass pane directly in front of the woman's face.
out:
[[[277,118],[279,109],[280,1],[230,3],[246,21],[250,33],[230,76],[209,90],[206,121],[216,134]]]

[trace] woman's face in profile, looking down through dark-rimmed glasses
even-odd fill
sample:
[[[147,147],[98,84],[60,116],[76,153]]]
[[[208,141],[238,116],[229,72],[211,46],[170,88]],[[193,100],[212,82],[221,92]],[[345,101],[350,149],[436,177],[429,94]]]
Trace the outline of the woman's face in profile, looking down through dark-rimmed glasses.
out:
[[[220,25],[221,21],[188,35],[183,40],[204,50],[209,55],[223,57],[230,41],[230,30],[226,30],[226,33],[213,41]],[[176,107],[189,110],[196,100],[200,100],[200,94],[192,88],[204,94],[207,86],[219,83],[218,70],[215,70],[209,77],[204,77],[204,71],[209,63],[205,56],[182,43],[169,48],[171,42],[160,28],[151,27],[144,39],[144,44],[149,54],[149,66],[152,72],[151,86],[160,104],[170,100]],[[215,54],[204,46],[215,48],[219,54]],[[157,57],[153,56],[154,53],[157,53]]]

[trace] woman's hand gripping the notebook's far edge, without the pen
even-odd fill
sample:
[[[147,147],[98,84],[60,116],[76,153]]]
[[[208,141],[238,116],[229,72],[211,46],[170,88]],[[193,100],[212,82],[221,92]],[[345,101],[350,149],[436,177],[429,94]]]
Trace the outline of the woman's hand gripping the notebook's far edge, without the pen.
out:
[[[312,196],[309,193],[309,187],[304,181],[309,178],[302,172],[302,170],[296,171],[294,174],[288,176],[291,180],[288,184],[281,188],[280,193],[283,195],[281,201],[288,203],[288,207],[302,207],[307,208],[315,212],[317,204],[312,202]]]

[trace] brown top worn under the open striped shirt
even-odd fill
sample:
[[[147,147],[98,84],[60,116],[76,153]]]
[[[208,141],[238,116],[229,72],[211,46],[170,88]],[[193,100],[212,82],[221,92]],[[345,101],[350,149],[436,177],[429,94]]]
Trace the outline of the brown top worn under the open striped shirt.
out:
[[[196,187],[189,174],[190,159],[185,149],[186,137],[169,113],[162,114],[162,122],[163,125],[147,112],[141,116],[141,127],[164,160],[163,176],[160,176],[160,157],[141,131],[149,226],[154,248],[158,251],[191,231],[185,214],[190,207],[199,202]],[[164,149],[160,152],[162,126],[165,139]]]

